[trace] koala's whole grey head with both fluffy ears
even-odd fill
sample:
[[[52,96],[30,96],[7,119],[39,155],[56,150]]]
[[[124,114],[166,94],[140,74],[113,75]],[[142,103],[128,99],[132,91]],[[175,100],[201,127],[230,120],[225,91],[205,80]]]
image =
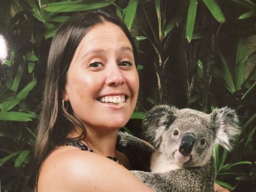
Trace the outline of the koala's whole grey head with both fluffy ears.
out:
[[[147,112],[143,126],[145,136],[166,159],[184,168],[206,164],[215,144],[230,150],[239,133],[238,117],[228,107],[205,114],[158,105]]]

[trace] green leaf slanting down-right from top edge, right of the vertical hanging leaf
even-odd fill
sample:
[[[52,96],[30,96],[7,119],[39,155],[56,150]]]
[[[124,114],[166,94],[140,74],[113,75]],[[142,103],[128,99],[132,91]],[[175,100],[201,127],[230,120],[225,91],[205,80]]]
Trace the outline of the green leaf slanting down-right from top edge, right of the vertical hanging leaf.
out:
[[[203,0],[205,6],[209,9],[213,17],[220,23],[226,21],[223,12],[220,10],[218,3],[215,0]]]

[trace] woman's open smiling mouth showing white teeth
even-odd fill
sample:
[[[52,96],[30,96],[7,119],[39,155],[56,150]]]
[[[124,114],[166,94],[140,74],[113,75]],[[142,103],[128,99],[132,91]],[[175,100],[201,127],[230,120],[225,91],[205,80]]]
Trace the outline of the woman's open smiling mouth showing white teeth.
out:
[[[102,102],[103,104],[125,106],[128,98],[129,97],[127,95],[106,95],[97,97],[96,100]]]

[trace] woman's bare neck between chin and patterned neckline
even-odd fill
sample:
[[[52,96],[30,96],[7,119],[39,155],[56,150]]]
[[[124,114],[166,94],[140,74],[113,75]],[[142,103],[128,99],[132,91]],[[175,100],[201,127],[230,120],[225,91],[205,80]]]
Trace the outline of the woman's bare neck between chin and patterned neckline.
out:
[[[117,129],[99,131],[86,126],[86,136],[82,142],[99,155],[116,156],[117,132]]]

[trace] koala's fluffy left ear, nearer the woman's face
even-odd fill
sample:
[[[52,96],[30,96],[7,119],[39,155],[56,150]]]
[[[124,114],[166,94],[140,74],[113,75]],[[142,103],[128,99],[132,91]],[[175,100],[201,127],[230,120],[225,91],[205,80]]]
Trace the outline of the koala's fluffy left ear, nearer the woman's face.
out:
[[[143,121],[145,136],[155,147],[159,146],[161,135],[175,120],[177,110],[169,105],[156,105],[146,113]]]

